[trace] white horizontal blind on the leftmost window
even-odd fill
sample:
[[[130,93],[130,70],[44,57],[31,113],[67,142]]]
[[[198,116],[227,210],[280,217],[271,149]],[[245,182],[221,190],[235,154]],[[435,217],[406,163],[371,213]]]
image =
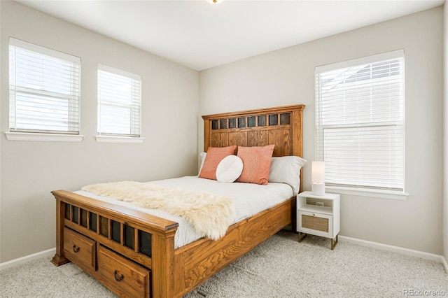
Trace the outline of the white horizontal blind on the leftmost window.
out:
[[[10,132],[79,134],[80,58],[9,39]]]

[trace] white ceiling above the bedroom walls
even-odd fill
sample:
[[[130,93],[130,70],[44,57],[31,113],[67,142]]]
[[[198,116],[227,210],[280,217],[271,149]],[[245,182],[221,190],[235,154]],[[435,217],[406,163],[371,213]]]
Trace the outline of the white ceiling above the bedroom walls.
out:
[[[434,8],[444,0],[16,0],[203,70]]]

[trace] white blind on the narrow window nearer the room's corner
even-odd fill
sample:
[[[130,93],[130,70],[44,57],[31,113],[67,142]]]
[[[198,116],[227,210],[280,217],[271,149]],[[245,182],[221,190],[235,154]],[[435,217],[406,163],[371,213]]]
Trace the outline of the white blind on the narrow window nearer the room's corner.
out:
[[[98,134],[140,136],[141,76],[98,65]]]

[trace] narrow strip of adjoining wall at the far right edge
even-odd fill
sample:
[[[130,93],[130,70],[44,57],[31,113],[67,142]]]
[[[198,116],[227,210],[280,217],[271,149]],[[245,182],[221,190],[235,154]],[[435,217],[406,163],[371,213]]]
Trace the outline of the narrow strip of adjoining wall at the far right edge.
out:
[[[444,28],[444,146],[443,146],[443,255],[448,264],[448,4],[443,6],[443,28]],[[446,268],[448,271],[448,268]]]

